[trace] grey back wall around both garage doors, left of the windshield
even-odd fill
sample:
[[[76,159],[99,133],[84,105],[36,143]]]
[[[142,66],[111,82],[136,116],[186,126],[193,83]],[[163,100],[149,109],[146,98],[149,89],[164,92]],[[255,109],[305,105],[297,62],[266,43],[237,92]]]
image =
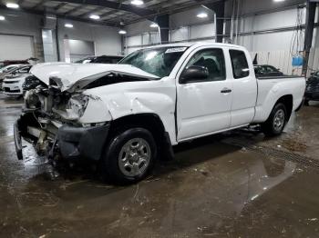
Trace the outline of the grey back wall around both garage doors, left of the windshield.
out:
[[[0,10],[0,15],[5,15],[5,21],[0,21],[0,35],[26,35],[32,37],[34,55],[44,62],[44,45],[42,40],[42,15],[31,15],[24,12]],[[83,40],[94,42],[96,55],[120,55],[121,36],[118,35],[118,28],[104,25],[93,25],[76,21],[68,21],[74,28],[66,28],[65,20],[58,20],[58,39],[60,60],[65,61],[64,39]],[[53,32],[55,33],[55,31]],[[46,38],[48,40],[49,38]],[[53,44],[56,47],[56,37],[53,36]],[[52,44],[47,43],[45,46]],[[52,51],[52,50],[51,50]],[[56,54],[56,53],[52,53]],[[11,59],[10,55],[5,55]],[[48,61],[57,60],[57,57],[50,55]]]

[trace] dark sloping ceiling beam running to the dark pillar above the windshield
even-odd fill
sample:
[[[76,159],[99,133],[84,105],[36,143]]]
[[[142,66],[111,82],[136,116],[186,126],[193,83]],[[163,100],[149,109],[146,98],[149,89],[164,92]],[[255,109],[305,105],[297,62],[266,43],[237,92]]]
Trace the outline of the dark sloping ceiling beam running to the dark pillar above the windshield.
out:
[[[155,11],[133,6],[133,5],[125,5],[117,2],[111,2],[108,0],[52,0],[54,2],[62,2],[62,3],[69,3],[69,4],[77,4],[77,5],[95,5],[101,7],[107,7],[115,10],[122,10],[129,13],[133,13],[135,15],[139,15],[141,17],[147,15],[154,15],[156,14]]]

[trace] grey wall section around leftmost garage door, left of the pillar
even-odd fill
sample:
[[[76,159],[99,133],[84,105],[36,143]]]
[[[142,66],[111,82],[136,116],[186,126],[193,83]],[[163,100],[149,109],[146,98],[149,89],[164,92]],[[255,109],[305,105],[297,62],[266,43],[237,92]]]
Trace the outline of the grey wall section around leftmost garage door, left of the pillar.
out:
[[[0,35],[22,35],[31,37],[33,55],[41,61],[44,60],[41,36],[41,16],[29,15],[22,12],[0,10],[0,15],[5,16],[5,21],[0,21]],[[0,46],[1,47],[1,46]],[[12,52],[14,54],[14,52]],[[18,54],[18,52],[15,52]],[[25,56],[25,55],[24,55]],[[2,59],[18,59],[19,55],[2,55]]]

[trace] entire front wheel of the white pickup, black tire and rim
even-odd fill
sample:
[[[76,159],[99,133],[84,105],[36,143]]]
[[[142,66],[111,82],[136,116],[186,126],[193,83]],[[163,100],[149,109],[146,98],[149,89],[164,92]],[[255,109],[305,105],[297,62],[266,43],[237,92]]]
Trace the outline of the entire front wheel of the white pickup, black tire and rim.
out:
[[[103,158],[108,177],[116,183],[136,183],[153,167],[157,146],[144,128],[131,128],[115,134]]]

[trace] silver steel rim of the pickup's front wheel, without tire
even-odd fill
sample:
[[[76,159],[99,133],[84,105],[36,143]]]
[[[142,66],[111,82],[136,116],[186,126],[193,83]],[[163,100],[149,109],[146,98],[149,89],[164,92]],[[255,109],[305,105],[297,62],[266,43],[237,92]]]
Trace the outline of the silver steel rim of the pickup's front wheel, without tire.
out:
[[[119,170],[129,177],[144,174],[150,162],[149,143],[142,138],[134,138],[124,144],[118,154]]]

